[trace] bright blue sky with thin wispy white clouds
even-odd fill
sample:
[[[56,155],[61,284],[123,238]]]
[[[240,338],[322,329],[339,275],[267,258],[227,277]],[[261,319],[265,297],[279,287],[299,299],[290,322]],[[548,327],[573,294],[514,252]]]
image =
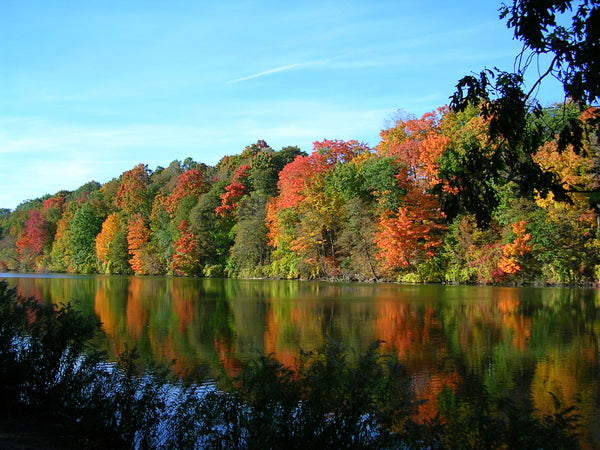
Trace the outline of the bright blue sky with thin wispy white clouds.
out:
[[[495,1],[0,2],[0,208],[264,139],[371,146],[510,70]],[[556,86],[539,93],[560,101]]]

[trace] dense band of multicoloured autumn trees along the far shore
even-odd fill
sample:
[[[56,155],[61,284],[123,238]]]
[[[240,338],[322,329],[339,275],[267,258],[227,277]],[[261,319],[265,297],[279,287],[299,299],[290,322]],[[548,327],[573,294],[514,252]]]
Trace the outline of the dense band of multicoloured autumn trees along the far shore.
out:
[[[586,123],[597,117],[566,102],[527,115],[518,139],[498,138],[481,106],[442,107],[399,116],[374,148],[258,141],[214,167],[139,164],[0,210],[0,269],[594,283],[599,146]],[[574,121],[582,132],[565,144]]]

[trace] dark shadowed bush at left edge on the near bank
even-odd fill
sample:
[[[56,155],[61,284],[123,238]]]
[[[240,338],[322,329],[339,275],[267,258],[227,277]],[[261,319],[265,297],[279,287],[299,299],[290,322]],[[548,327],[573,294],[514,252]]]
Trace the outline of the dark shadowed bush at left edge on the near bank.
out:
[[[98,329],[72,304],[56,307],[24,298],[0,282],[0,402],[52,410],[74,418],[85,408],[85,388],[95,379],[91,369],[99,354],[90,339]],[[84,357],[83,352],[90,353]]]

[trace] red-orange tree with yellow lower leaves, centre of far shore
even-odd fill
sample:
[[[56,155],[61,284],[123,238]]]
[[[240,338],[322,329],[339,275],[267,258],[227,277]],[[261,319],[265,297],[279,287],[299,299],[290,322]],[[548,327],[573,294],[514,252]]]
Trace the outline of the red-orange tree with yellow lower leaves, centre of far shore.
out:
[[[343,199],[326,186],[336,168],[369,152],[356,141],[324,140],[314,143],[310,156],[297,156],[282,169],[279,195],[267,205],[266,217],[269,240],[276,248],[275,271],[289,276],[302,267],[304,277],[338,276],[335,246]]]

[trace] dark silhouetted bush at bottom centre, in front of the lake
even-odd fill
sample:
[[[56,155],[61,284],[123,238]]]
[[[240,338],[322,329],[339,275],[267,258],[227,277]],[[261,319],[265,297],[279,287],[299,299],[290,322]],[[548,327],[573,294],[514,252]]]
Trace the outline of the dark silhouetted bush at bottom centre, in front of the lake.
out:
[[[250,363],[228,391],[247,413],[249,448],[390,448],[414,412],[410,378],[376,342],[354,361],[339,342],[300,352],[291,370],[271,356]]]

